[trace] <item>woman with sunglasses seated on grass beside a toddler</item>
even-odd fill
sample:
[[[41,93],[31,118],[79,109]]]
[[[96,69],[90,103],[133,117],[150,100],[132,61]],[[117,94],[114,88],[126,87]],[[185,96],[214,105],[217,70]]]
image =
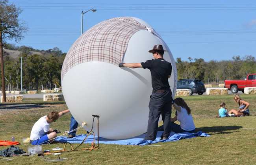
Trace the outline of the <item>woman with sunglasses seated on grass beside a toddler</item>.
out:
[[[246,102],[245,100],[243,100],[239,95],[235,95],[234,97],[235,102],[238,103],[239,105],[239,110],[235,110],[235,109],[231,109],[231,111],[228,112],[228,114],[232,114],[234,113],[237,117],[240,116],[250,116],[250,111],[249,111],[249,102]]]

